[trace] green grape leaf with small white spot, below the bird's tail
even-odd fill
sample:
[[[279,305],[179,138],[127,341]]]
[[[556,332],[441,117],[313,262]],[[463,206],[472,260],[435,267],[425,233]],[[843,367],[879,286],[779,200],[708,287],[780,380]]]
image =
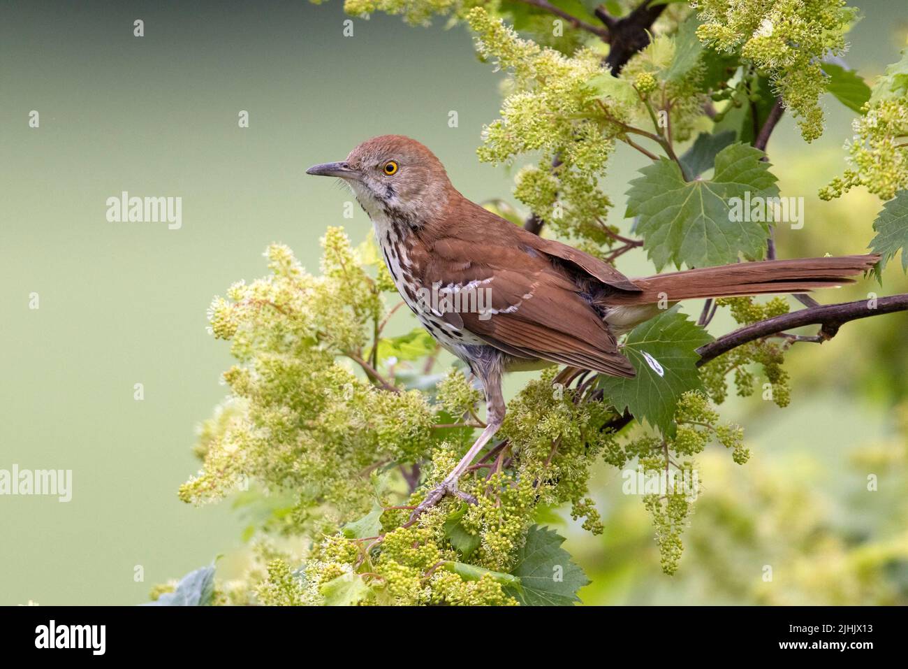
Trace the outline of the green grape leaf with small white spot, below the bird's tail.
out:
[[[702,390],[696,349],[713,341],[702,327],[679,314],[677,307],[637,325],[624,346],[637,376],[632,379],[603,374],[599,387],[618,411],[625,407],[637,420],[675,434],[678,399],[688,390]]]

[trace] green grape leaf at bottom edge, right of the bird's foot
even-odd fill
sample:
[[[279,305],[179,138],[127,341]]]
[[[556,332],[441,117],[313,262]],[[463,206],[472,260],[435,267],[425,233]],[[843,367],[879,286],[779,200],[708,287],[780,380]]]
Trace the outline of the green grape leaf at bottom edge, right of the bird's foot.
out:
[[[520,587],[509,586],[505,591],[524,606],[571,606],[579,602],[577,590],[589,579],[561,547],[564,540],[548,527],[530,527],[527,543],[518,551],[517,566],[511,570],[520,579]]]

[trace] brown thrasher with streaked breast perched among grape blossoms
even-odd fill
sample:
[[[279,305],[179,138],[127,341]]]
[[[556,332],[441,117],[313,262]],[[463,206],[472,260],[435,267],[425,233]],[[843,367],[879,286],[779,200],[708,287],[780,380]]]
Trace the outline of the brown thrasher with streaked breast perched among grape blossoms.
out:
[[[803,293],[852,283],[876,255],[799,258],[702,267],[628,279],[612,265],[543,239],[470,202],[451,185],[439,159],[401,135],[373,137],[338,163],[310,175],[338,176],[369,215],[404,302],[439,344],[469,364],[485,389],[486,428],[416,517],[445,494],[470,499],[457,482],[498,431],[505,415],[501,374],[539,363],[567,364],[633,377],[617,337],[658,314],[658,305],[733,295]],[[429,304],[446,295],[488,291],[489,304]],[[473,500],[475,501],[475,500]]]

